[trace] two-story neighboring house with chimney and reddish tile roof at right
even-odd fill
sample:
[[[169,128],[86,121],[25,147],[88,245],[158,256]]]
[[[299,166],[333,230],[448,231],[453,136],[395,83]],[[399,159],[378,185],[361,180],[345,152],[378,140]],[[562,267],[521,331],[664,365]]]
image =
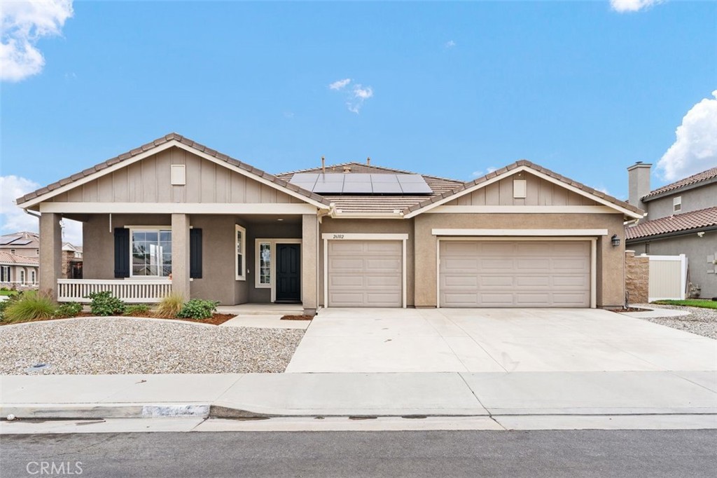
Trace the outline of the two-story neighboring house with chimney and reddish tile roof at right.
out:
[[[630,204],[647,217],[625,229],[636,254],[688,258],[688,281],[701,297],[717,296],[717,167],[650,191],[650,167],[627,168]]]

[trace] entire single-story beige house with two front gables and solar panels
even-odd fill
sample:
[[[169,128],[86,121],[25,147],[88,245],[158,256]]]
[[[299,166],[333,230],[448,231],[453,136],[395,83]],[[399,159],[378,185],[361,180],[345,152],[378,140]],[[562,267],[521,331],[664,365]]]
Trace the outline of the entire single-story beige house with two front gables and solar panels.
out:
[[[60,300],[624,303],[637,207],[529,161],[467,183],[368,163],[274,176],[171,133],[17,202],[42,214],[40,286]],[[60,278],[62,217],[83,223],[82,280]]]

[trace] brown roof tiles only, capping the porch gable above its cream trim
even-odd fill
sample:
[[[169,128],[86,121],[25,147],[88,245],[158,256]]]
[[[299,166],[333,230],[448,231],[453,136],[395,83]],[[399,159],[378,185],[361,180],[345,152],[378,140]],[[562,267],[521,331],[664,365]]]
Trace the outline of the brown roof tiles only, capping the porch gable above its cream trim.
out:
[[[99,164],[95,164],[95,166],[85,169],[82,172],[79,172],[77,174],[72,174],[72,176],[70,176],[70,177],[66,177],[65,179],[60,179],[60,181],[53,182],[52,184],[49,184],[45,187],[41,187],[40,189],[37,189],[37,191],[29,192],[27,195],[24,195],[23,197],[19,197],[17,199],[17,204],[22,204],[22,202],[27,202],[29,200],[34,199],[35,197],[42,196],[44,194],[47,194],[48,192],[52,192],[52,191],[54,191],[54,189],[59,189],[62,186],[71,184],[72,182],[75,182],[79,179],[90,176],[91,174],[95,174],[96,172],[100,172],[103,169],[113,166],[114,164],[118,164],[122,161],[131,159],[134,156],[137,156],[138,154],[144,153],[145,151],[149,151],[150,149],[153,149],[156,146],[161,146],[162,144],[165,144],[168,141],[179,141],[181,144],[189,146],[191,149],[195,149],[196,151],[200,151],[204,154],[209,154],[209,156],[212,156],[216,159],[220,159],[220,160],[226,162],[227,164],[230,164],[234,167],[238,167],[240,169],[244,169],[244,171],[250,172],[252,174],[255,174],[256,176],[267,179],[268,181],[273,182],[280,187],[284,187],[287,189],[291,189],[294,192],[298,192],[300,195],[308,197],[311,200],[314,200],[315,202],[320,202],[322,204],[326,203],[326,205],[328,206],[328,202],[326,202],[323,199],[323,197],[320,197],[319,195],[317,195],[313,192],[309,192],[309,191],[306,191],[305,189],[301,189],[300,187],[296,186],[295,184],[288,184],[288,182],[286,182],[283,179],[277,178],[273,174],[264,172],[261,169],[257,169],[255,167],[250,166],[249,164],[242,163],[242,161],[239,161],[230,156],[227,156],[227,154],[223,154],[214,149],[207,148],[203,144],[196,143],[195,141],[192,141],[191,139],[186,138],[185,136],[181,136],[177,133],[169,133],[166,136],[162,136],[161,138],[155,139],[154,141],[150,141],[147,144],[143,144],[142,146],[139,146],[138,148],[135,148],[131,151],[127,151],[126,153],[120,154],[119,156],[115,156],[112,159],[108,159],[107,161],[103,161]]]

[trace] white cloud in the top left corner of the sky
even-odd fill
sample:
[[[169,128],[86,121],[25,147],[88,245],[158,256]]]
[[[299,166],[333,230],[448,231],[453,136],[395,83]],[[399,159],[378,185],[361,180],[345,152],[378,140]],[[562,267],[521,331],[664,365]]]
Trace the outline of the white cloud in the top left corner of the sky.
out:
[[[62,34],[72,17],[72,0],[6,0],[0,17],[0,80],[37,75],[44,57],[35,46],[42,37]]]

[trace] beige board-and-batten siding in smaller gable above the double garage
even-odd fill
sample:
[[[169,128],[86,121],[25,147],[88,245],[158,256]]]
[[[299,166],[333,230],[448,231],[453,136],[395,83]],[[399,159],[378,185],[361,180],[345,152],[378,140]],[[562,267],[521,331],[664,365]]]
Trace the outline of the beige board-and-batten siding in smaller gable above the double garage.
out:
[[[526,197],[513,197],[513,179],[526,179]],[[526,172],[476,189],[447,206],[595,206],[597,202]]]

